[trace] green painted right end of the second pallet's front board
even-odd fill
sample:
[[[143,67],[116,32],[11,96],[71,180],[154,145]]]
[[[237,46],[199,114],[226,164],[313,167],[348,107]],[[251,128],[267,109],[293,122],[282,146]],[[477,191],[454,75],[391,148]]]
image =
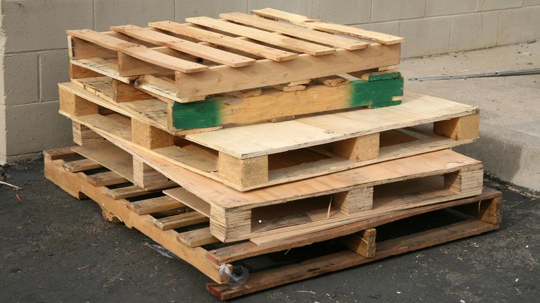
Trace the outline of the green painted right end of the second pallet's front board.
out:
[[[403,95],[403,83],[403,77],[379,81],[354,80],[350,82],[350,107],[388,106],[393,97]]]

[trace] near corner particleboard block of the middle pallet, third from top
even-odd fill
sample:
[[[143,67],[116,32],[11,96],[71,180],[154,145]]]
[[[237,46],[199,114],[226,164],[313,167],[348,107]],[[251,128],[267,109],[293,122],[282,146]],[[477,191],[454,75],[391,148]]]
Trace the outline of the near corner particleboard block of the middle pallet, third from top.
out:
[[[219,178],[242,187],[266,183],[268,182],[268,156],[240,159],[219,152],[217,171]]]

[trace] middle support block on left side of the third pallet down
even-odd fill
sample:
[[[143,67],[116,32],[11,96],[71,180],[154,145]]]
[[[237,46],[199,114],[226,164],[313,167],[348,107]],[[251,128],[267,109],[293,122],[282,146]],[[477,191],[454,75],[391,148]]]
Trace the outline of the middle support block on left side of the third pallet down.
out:
[[[132,141],[147,149],[174,145],[174,136],[145,122],[132,119]]]

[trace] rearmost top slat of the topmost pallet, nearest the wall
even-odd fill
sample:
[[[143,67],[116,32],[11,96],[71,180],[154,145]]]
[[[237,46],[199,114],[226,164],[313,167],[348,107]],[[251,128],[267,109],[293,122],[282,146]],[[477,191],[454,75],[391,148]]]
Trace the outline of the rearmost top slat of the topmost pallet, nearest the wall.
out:
[[[292,14],[290,12],[283,12],[281,10],[274,10],[273,8],[264,8],[262,10],[252,10],[253,14],[259,15],[265,18],[281,21],[289,21],[292,24],[299,26],[305,26],[313,28],[315,30],[322,30],[327,33],[338,33],[342,35],[349,35],[360,39],[378,42],[380,44],[399,44],[404,42],[404,38],[394,35],[388,35],[383,33],[377,33],[371,30],[363,30],[353,26],[345,26],[341,24],[333,24],[330,22],[320,21],[317,19],[311,19],[302,15]]]

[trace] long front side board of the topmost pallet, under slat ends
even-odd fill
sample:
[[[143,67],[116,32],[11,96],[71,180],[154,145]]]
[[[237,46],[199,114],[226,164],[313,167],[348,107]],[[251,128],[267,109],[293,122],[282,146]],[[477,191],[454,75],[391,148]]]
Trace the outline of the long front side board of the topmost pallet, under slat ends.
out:
[[[379,45],[361,50],[340,48],[334,55],[325,57],[301,54],[297,59],[285,62],[261,59],[257,64],[243,68],[212,66],[205,73],[186,75],[177,72],[176,82],[181,98],[241,91],[397,64],[400,50],[399,44]]]

